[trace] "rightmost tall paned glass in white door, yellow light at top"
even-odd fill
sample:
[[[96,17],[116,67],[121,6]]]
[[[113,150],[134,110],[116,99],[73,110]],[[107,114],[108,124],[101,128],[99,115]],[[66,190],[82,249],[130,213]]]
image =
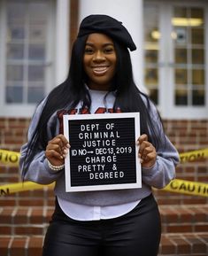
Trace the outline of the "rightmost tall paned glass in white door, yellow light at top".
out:
[[[174,104],[205,105],[204,9],[173,8]]]

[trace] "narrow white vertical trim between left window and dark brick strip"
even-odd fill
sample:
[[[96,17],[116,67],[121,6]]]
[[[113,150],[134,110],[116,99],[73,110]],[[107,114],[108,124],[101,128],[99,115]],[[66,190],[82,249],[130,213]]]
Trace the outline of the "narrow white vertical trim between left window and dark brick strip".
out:
[[[57,1],[56,19],[56,81],[64,81],[69,69],[69,5],[70,0]]]

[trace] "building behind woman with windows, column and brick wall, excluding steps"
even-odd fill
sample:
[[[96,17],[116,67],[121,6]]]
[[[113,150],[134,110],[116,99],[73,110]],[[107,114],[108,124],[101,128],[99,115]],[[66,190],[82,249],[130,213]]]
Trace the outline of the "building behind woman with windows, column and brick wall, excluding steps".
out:
[[[26,142],[35,106],[65,80],[78,24],[91,13],[109,14],[129,30],[136,84],[158,105],[177,149],[208,147],[207,1],[0,0],[0,148],[19,151]],[[19,181],[18,170],[6,174],[2,167],[0,182]],[[207,160],[177,171],[198,182],[207,174]]]

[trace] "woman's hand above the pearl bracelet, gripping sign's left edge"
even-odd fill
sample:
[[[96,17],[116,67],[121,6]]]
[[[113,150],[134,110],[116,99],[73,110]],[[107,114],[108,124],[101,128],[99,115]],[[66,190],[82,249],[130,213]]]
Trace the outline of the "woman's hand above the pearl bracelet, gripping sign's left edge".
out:
[[[65,156],[67,154],[70,144],[66,140],[65,136],[58,135],[49,141],[45,156],[53,166],[61,166],[65,162]]]

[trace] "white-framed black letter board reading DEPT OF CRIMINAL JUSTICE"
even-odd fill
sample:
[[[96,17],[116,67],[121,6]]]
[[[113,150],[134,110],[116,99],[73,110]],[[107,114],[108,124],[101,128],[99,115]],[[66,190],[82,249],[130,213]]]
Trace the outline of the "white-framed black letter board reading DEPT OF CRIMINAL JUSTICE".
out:
[[[138,112],[64,115],[65,190],[141,188]]]

